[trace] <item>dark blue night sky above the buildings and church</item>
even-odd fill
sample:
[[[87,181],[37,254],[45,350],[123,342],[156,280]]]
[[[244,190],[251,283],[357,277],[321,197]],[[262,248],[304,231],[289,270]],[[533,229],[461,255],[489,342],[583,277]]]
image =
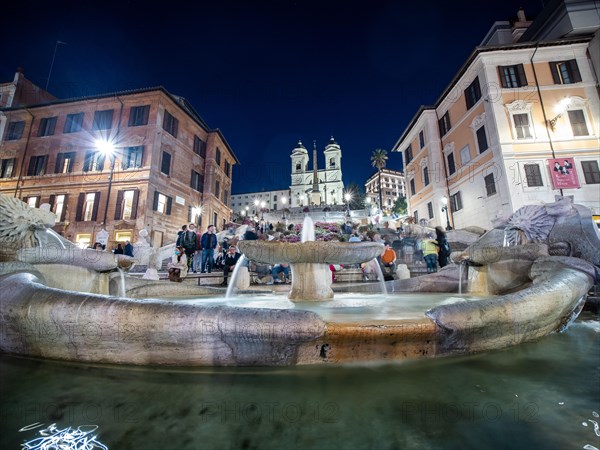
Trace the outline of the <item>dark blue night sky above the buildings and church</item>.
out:
[[[282,189],[298,139],[331,135],[344,182],[362,185],[434,103],[494,21],[542,0],[10,2],[0,80],[18,66],[60,98],[163,85],[186,97],[238,156],[233,193]],[[18,5],[24,6],[18,6]],[[152,6],[151,6],[152,5]],[[312,155],[311,155],[312,156]],[[312,157],[311,157],[312,159]],[[320,165],[323,162],[320,160]],[[388,167],[401,170],[399,154]]]

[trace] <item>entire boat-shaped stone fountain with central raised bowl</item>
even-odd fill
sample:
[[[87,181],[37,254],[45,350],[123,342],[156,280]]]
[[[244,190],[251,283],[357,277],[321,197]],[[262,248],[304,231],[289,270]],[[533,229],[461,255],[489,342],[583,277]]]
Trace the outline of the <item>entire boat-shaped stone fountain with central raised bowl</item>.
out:
[[[453,254],[478,273],[481,297],[455,302],[458,267],[387,282],[387,297],[332,299],[328,264],[372,259],[381,247],[307,241],[246,241],[261,262],[288,262],[290,299],[215,299],[214,291],[126,276],[134,261],[44,241],[47,212],[0,195],[0,349],[6,353],[99,363],[278,366],[402,360],[503,348],[564,329],[598,280],[600,239],[589,210],[568,201],[525,207],[509,223]],[[523,242],[504,247],[506,228]],[[541,231],[540,231],[541,230]],[[64,245],[64,248],[62,248]],[[377,288],[370,283],[353,292]],[[209,294],[211,293],[212,294]],[[194,295],[194,301],[166,296]],[[281,299],[281,297],[279,297]],[[402,315],[411,303],[422,313]],[[283,307],[277,305],[284,304]],[[426,306],[425,306],[426,305]],[[395,308],[395,309],[394,309]],[[427,311],[426,311],[427,310]]]

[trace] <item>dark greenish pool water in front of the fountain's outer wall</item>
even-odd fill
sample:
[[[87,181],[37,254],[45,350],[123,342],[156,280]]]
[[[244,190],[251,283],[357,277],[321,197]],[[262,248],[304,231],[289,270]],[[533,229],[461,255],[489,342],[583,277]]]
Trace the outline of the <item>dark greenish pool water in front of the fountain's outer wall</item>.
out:
[[[113,449],[600,447],[600,323],[403,364],[107,367],[0,356],[0,448],[97,424]],[[584,423],[586,425],[584,425]],[[588,447],[591,448],[591,447]]]

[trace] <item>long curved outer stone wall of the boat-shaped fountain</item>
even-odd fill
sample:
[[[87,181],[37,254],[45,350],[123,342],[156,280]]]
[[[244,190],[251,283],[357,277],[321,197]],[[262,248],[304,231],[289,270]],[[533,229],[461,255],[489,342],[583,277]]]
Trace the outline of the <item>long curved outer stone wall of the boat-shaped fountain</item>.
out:
[[[50,288],[20,271],[0,276],[0,350],[118,364],[276,366],[403,360],[503,348],[565,328],[595,268],[548,257],[529,287],[437,306],[421,319],[327,321],[302,309],[128,299]],[[583,265],[582,265],[583,264]],[[25,268],[23,268],[24,270]]]

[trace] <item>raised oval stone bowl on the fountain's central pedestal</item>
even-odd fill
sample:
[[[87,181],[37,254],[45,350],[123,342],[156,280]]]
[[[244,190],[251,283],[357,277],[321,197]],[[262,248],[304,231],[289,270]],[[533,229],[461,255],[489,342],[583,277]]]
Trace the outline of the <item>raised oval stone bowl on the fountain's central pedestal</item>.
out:
[[[360,264],[383,253],[377,242],[280,242],[240,241],[247,258],[263,264]]]

